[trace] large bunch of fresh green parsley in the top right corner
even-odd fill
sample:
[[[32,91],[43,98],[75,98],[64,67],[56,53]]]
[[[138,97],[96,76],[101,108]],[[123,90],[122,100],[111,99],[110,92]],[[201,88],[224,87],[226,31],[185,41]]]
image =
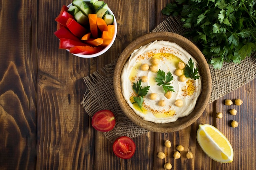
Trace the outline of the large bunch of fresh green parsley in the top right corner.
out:
[[[214,68],[256,51],[255,0],[175,0],[162,13],[181,16],[190,30],[184,36],[193,38]]]

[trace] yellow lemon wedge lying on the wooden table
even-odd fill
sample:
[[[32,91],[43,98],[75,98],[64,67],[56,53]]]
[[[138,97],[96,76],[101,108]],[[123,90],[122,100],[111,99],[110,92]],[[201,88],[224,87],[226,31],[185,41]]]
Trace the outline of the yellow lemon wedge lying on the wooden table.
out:
[[[209,124],[200,124],[196,139],[204,153],[220,163],[233,161],[234,151],[229,140],[216,127]]]

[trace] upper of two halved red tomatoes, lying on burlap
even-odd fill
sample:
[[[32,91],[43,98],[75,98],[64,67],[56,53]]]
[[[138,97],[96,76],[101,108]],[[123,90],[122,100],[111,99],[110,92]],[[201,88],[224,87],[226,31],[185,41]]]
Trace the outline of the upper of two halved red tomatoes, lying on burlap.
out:
[[[100,110],[92,117],[92,127],[101,132],[112,130],[115,124],[115,115],[110,110]]]

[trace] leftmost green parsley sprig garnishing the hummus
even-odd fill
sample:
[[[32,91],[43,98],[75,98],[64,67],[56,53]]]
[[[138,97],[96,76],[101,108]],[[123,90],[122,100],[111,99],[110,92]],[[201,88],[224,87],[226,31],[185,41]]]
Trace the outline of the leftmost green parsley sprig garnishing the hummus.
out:
[[[144,96],[146,96],[148,93],[149,86],[142,88],[141,79],[139,79],[139,81],[136,84],[135,84],[135,82],[133,82],[132,89],[135,91],[135,93],[137,95],[137,96],[133,97],[134,102],[132,104],[137,104],[139,106],[139,108],[141,109],[141,111],[143,111],[142,104],[144,101]]]

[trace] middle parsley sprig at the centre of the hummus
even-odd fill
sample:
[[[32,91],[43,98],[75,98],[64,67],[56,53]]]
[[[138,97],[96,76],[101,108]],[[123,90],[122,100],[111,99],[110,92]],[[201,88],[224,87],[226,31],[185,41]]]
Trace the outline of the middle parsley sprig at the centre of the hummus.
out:
[[[171,74],[171,72],[169,71],[166,76],[165,76],[165,72],[162,70],[158,70],[157,71],[157,77],[155,77],[155,81],[157,82],[157,86],[162,86],[165,93],[167,91],[173,91],[173,86],[171,86],[171,81],[173,80],[173,75]]]

